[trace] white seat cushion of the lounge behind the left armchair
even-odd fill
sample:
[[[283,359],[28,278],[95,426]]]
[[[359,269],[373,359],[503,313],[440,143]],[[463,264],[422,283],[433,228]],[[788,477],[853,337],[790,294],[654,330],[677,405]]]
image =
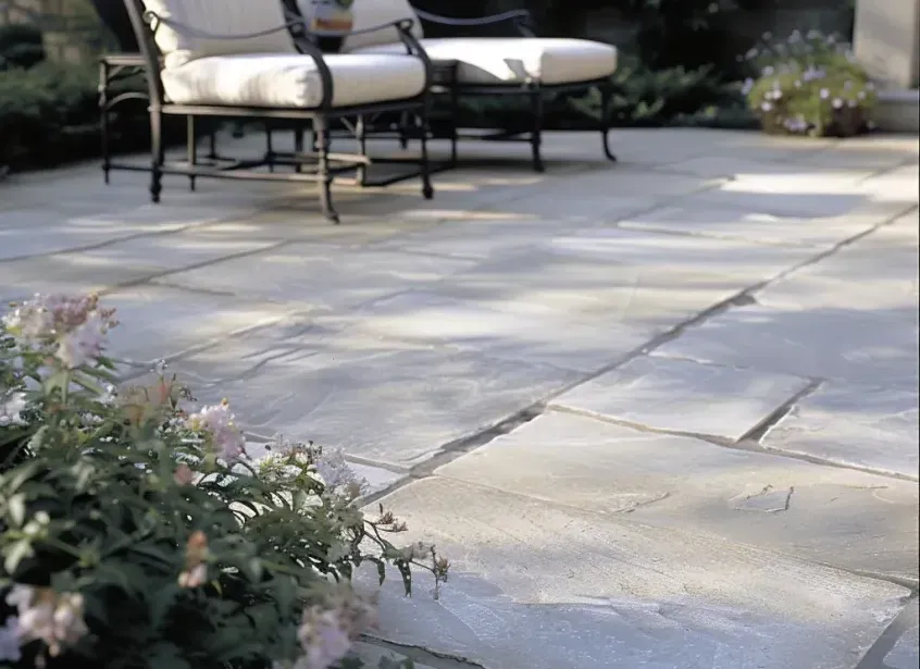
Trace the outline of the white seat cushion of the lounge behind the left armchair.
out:
[[[548,37],[445,37],[422,39],[432,60],[456,60],[460,84],[574,84],[610,76],[617,49],[586,39]],[[357,53],[398,53],[401,44],[375,45]]]

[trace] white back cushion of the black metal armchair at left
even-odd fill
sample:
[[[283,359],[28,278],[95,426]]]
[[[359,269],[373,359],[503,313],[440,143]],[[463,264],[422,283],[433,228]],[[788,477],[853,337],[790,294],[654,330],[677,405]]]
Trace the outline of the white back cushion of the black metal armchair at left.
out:
[[[281,0],[144,0],[149,11],[213,35],[246,35],[282,28]],[[154,34],[166,69],[209,55],[295,53],[287,29],[249,39],[209,39],[160,24]]]

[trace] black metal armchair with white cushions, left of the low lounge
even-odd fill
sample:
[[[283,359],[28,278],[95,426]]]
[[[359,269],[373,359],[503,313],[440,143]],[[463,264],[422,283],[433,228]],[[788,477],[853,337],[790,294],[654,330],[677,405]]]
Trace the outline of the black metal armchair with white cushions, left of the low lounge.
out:
[[[323,53],[307,30],[297,0],[125,0],[149,90],[151,129],[150,197],[157,202],[165,174],[196,177],[313,182],[323,214],[338,222],[332,202],[333,177],[363,172],[371,162],[330,150],[330,125],[340,120],[400,113],[426,127],[432,64],[415,39],[414,20],[396,16],[364,22],[351,30],[327,32],[361,45],[368,36],[398,45],[398,52]],[[321,35],[322,36],[322,35]],[[184,162],[165,160],[162,124],[185,116],[188,151]],[[313,151],[297,146],[277,172],[275,158],[236,160],[222,165],[198,160],[196,121],[201,117],[258,120],[289,127],[302,138],[314,134]],[[425,198],[433,196],[423,133],[415,161]],[[299,141],[299,144],[302,144]],[[268,168],[269,170],[260,170]]]

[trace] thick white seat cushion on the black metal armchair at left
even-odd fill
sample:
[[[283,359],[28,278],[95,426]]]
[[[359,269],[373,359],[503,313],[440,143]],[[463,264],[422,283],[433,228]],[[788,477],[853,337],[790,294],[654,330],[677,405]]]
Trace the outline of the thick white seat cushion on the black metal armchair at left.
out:
[[[333,75],[333,106],[351,107],[413,98],[425,87],[425,69],[412,55],[335,53],[325,57]],[[322,83],[309,55],[213,55],[162,72],[166,99],[176,104],[227,104],[313,109]]]

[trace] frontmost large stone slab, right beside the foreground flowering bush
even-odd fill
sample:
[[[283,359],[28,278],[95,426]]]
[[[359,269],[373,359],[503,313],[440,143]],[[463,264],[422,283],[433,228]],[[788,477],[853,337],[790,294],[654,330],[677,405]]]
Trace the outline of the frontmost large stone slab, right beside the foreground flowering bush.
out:
[[[380,635],[488,669],[853,669],[908,593],[438,476],[383,501],[453,578],[438,600],[390,580]]]

